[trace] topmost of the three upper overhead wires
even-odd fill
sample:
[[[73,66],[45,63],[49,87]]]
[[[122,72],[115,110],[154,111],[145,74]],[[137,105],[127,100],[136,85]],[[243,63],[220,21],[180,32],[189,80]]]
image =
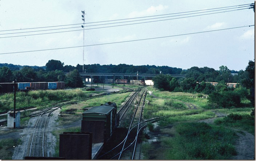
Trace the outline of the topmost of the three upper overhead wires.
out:
[[[254,4],[254,3],[252,3],[252,4]],[[178,12],[178,13],[168,13],[168,14],[164,14],[164,15],[154,15],[154,16],[134,17],[134,18],[123,18],[123,19],[117,19],[117,20],[97,21],[97,22],[87,22],[86,24],[100,23],[100,22],[111,22],[111,21],[121,21],[121,20],[131,20],[131,19],[136,19],[136,18],[166,16],[166,15],[174,15],[174,14],[180,14],[180,13],[207,11],[207,10],[212,10],[212,9],[229,8],[229,7],[237,7],[237,6],[252,5],[252,4],[242,4],[242,5],[233,5],[233,6],[227,6],[227,7],[211,8],[211,9],[201,9],[201,10],[196,10],[196,11],[187,11],[187,12]],[[14,30],[39,29],[39,28],[52,28],[52,27],[70,26],[70,25],[82,25],[82,23],[81,23],[81,24],[69,24],[69,25],[57,25],[57,26],[44,26],[44,27],[26,28],[26,29],[0,30],[0,32],[4,32],[4,31],[14,31]]]

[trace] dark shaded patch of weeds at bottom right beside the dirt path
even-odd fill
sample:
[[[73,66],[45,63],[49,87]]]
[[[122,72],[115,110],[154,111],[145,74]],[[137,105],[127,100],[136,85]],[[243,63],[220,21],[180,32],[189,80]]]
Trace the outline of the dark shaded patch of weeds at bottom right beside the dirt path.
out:
[[[236,154],[235,133],[223,127],[206,123],[183,123],[176,125],[179,135],[165,139],[170,146],[164,152],[169,160],[223,160]]]

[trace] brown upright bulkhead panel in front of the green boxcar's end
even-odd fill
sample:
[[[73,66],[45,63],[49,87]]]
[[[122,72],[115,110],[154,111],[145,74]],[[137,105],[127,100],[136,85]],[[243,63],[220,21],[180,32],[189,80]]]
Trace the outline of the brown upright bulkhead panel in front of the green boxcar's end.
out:
[[[81,132],[92,133],[92,143],[104,142],[104,122],[82,120]]]

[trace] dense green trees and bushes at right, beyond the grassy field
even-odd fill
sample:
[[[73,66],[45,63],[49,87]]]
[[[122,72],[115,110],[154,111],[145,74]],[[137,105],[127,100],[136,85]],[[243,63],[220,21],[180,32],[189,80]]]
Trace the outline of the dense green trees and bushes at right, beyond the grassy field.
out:
[[[241,100],[248,99],[255,104],[255,62],[249,61],[245,71],[240,70],[233,75],[227,66],[220,66],[216,71],[209,67],[191,67],[180,74],[186,78],[173,78],[168,74],[160,74],[153,78],[154,86],[162,91],[191,92],[208,94],[211,105],[218,107],[239,107]],[[217,86],[211,83],[217,82]],[[236,88],[227,87],[226,83],[239,83]]]

